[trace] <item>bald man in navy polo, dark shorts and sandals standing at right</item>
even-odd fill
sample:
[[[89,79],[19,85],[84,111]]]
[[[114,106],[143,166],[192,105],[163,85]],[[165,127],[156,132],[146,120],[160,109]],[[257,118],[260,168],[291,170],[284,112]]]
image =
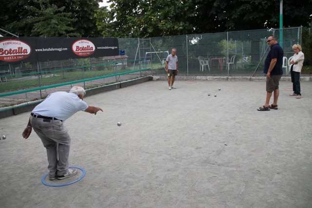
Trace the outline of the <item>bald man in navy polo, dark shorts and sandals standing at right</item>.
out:
[[[283,57],[284,51],[277,43],[274,36],[270,36],[267,40],[271,50],[264,61],[263,73],[267,75],[266,91],[267,98],[263,107],[258,108],[258,111],[277,110],[277,99],[279,95],[279,80],[283,75]],[[273,94],[273,103],[270,105],[270,99]]]

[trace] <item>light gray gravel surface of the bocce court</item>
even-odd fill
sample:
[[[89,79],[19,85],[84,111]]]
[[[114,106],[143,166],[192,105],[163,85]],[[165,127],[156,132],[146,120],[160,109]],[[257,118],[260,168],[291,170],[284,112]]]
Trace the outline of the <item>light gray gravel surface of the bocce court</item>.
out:
[[[301,99],[289,96],[291,82],[280,82],[278,110],[268,112],[256,110],[264,81],[175,86],[148,81],[87,96],[104,112],[66,120],[70,166],[86,175],[64,187],[41,183],[46,151],[35,132],[21,136],[30,112],[0,119],[1,207],[311,207],[311,82],[301,82]]]

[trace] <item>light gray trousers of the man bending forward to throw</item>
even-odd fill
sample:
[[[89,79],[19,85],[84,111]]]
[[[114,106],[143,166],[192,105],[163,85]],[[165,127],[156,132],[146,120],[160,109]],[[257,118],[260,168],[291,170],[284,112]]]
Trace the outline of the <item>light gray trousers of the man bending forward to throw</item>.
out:
[[[69,167],[68,158],[71,144],[67,128],[60,120],[30,116],[30,122],[47,150],[49,177],[65,175]]]

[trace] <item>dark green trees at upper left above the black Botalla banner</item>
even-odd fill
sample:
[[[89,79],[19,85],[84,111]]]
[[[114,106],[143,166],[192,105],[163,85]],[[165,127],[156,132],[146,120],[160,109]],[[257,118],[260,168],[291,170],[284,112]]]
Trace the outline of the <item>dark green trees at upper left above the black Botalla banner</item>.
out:
[[[39,36],[44,31],[53,37],[99,37],[98,2],[102,0],[0,0],[0,28],[19,36]],[[49,32],[52,27],[54,31]]]

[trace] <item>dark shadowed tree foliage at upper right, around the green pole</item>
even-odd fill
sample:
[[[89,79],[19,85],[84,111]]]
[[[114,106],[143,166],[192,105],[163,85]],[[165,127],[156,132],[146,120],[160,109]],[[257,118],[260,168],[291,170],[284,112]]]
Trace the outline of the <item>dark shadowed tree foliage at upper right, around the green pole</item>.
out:
[[[283,26],[308,26],[311,22],[311,2],[312,0],[284,0]],[[280,0],[209,0],[208,4],[211,9],[203,9],[209,11],[213,21],[200,19],[204,24],[207,23],[203,28],[205,33],[207,30],[224,32],[279,28]]]

